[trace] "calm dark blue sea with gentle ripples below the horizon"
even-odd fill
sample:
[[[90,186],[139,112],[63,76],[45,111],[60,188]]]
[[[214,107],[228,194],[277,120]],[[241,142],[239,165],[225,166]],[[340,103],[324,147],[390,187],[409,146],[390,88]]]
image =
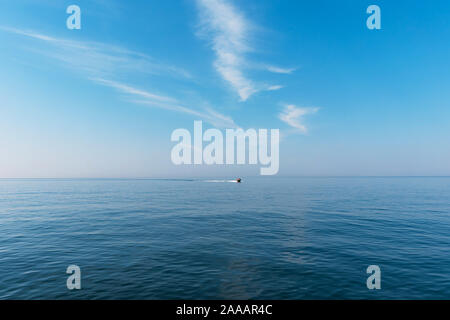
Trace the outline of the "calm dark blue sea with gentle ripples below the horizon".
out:
[[[0,180],[0,299],[450,299],[449,249],[450,178]]]

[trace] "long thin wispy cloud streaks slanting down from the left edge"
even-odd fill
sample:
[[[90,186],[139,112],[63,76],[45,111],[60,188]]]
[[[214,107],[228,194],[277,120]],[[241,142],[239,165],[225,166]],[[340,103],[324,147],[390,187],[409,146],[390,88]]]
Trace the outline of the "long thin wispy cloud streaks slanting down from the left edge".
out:
[[[158,63],[148,55],[118,46],[98,42],[81,42],[60,39],[34,31],[0,27],[0,30],[43,41],[50,45],[40,49],[30,49],[69,66],[72,71],[82,72],[87,79],[97,84],[113,88],[129,96],[128,101],[149,105],[165,110],[190,114],[217,127],[234,128],[233,119],[210,107],[200,110],[183,106],[179,100],[165,94],[138,89],[117,78],[133,78],[138,74],[169,74],[175,77],[190,75],[183,69]]]

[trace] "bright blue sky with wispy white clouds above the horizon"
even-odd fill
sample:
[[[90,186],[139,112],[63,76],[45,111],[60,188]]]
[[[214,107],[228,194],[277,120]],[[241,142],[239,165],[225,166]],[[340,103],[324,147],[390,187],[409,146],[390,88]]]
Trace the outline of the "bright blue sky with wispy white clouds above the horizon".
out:
[[[194,120],[279,128],[280,175],[449,175],[449,21],[446,0],[2,1],[0,177],[259,173],[174,166]]]

